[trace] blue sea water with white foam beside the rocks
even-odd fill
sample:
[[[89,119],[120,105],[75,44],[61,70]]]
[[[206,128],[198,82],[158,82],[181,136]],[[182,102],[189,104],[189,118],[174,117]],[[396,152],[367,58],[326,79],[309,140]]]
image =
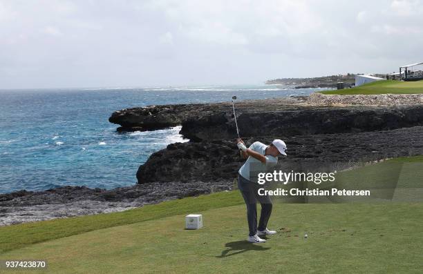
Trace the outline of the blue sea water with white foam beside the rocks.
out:
[[[182,139],[180,128],[117,133],[111,113],[182,104],[308,95],[283,86],[198,86],[0,90],[0,193],[57,186],[115,188],[136,183],[151,153]]]

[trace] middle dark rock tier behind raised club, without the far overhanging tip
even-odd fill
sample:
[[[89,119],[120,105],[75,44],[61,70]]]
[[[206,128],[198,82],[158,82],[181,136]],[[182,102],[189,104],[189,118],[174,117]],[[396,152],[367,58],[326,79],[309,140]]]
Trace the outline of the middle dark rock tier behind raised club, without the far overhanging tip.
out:
[[[243,137],[359,133],[423,126],[423,106],[303,107],[238,113]],[[236,128],[232,116],[215,113],[183,121],[180,133],[192,141],[231,139],[236,137]]]

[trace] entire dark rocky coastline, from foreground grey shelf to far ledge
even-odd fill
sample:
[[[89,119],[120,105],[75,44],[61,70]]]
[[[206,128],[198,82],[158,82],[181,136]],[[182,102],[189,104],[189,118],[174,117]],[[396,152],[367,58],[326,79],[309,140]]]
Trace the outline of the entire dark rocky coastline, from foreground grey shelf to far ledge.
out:
[[[338,97],[337,97],[338,96]],[[247,144],[278,137],[285,164],[375,161],[423,154],[422,95],[321,95],[236,102]],[[365,96],[365,97],[362,97]],[[0,195],[0,225],[124,211],[169,199],[232,190],[242,160],[234,144],[232,105],[180,104],[128,108],[109,121],[120,132],[181,125],[187,143],[153,153],[138,184],[113,190],[64,186]]]

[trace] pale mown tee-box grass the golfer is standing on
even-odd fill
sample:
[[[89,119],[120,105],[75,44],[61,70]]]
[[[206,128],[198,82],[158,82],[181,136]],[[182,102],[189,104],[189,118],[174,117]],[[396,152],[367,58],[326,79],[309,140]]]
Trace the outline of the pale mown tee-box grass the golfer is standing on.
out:
[[[198,231],[184,230],[184,216],[176,215],[33,244],[1,258],[48,260],[48,273],[419,273],[423,268],[423,204],[275,204],[270,228],[279,233],[263,245],[245,242],[245,206],[200,212],[205,227]]]

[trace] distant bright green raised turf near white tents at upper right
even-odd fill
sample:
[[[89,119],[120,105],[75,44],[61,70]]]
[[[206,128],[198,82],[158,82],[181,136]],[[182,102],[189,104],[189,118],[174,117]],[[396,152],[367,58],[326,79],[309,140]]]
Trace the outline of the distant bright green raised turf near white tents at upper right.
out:
[[[326,95],[375,95],[375,94],[416,94],[423,93],[423,81],[375,81],[355,88],[344,90],[325,90],[321,93]]]

